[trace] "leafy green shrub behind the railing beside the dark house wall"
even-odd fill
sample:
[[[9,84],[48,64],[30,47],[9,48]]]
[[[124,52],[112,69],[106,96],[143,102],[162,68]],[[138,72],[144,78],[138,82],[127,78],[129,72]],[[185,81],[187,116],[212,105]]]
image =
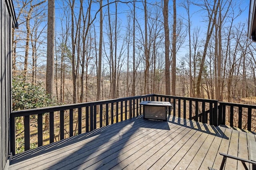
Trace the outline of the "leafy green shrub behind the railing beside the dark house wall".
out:
[[[57,101],[45,94],[42,83],[32,85],[23,81],[22,77],[12,79],[12,110],[24,110],[56,105]],[[30,118],[37,121],[35,115]],[[37,126],[37,123],[34,124]],[[30,143],[30,149],[36,148],[37,143]],[[16,153],[24,152],[24,120],[16,117]]]

